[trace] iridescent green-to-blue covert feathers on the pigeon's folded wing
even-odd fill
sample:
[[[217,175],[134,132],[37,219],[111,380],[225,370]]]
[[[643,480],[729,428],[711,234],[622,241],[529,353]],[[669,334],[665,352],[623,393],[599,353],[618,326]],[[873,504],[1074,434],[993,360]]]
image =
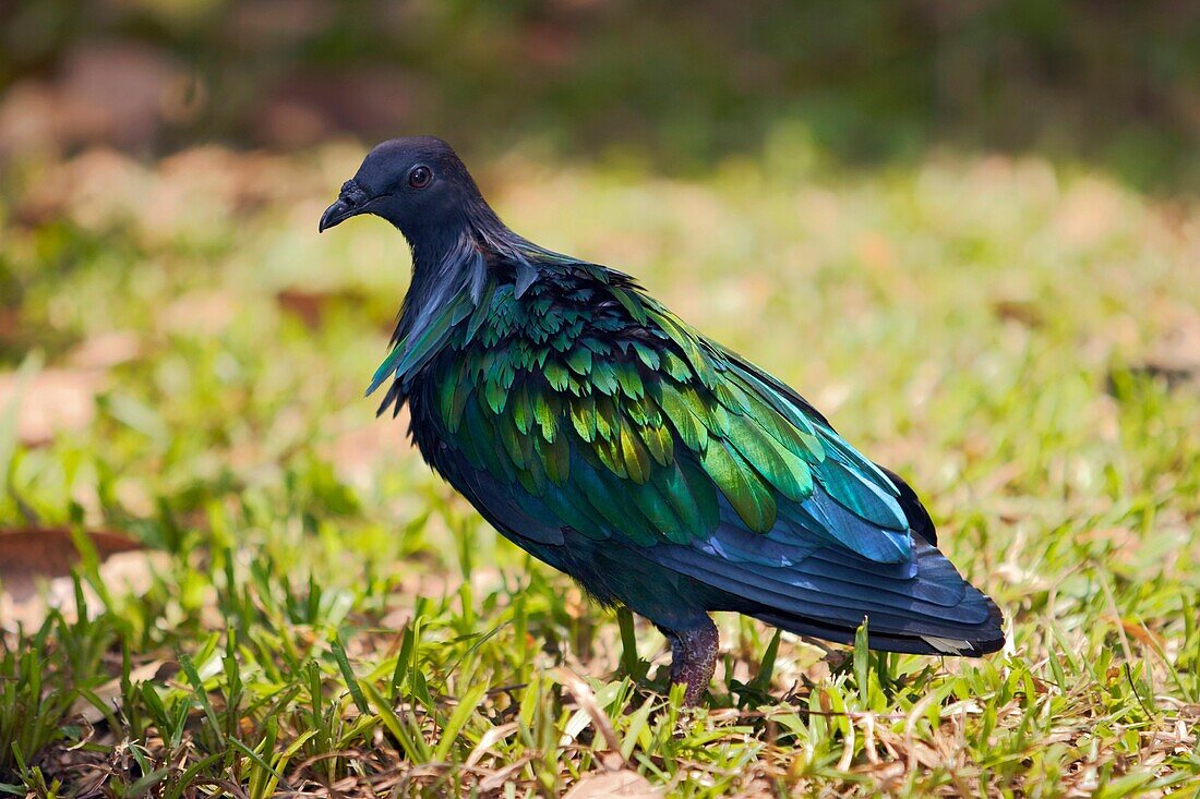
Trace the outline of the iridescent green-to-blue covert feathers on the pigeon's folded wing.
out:
[[[496,290],[490,317],[446,348],[433,403],[446,440],[523,489],[530,515],[640,546],[712,541],[731,558],[745,543],[736,531],[780,563],[820,547],[911,561],[882,471],[782,383],[631,283],[598,283],[568,307],[553,287],[535,283],[520,304]]]

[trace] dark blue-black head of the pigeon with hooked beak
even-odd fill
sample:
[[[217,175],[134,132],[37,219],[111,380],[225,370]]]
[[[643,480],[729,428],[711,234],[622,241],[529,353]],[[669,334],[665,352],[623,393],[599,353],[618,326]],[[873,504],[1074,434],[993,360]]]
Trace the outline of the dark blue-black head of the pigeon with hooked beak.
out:
[[[494,218],[457,154],[432,136],[391,139],[371,150],[318,229],[359,214],[388,220],[414,248],[458,235],[474,217]]]

